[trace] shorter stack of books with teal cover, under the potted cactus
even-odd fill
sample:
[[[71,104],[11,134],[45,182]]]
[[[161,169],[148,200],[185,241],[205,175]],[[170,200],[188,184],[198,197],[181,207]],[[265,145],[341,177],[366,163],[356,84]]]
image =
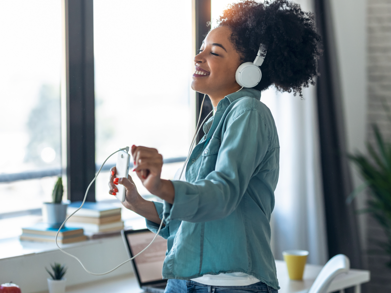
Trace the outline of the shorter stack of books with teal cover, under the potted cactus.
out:
[[[54,242],[58,229],[50,228],[46,223],[37,223],[32,227],[22,228],[21,240]],[[63,227],[58,233],[57,243],[73,243],[87,240],[81,228]]]

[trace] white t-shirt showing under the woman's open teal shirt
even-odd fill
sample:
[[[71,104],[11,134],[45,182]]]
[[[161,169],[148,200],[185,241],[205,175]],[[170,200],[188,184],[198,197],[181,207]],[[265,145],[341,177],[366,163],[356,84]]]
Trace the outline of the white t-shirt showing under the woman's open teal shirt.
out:
[[[185,173],[187,166],[183,169],[181,178],[178,179],[182,167],[175,172],[174,180],[186,181]],[[217,275],[204,274],[201,277],[191,280],[209,286],[248,286],[260,281],[256,277],[244,272],[219,273]]]

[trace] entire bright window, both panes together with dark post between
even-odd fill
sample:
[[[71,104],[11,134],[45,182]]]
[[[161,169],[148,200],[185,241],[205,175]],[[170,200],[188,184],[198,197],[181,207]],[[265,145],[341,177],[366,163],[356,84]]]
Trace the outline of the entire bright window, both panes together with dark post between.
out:
[[[72,188],[77,188],[71,194],[77,194],[72,196],[78,199],[86,189],[80,181],[85,182],[95,167],[120,147],[135,144],[157,148],[165,160],[165,179],[174,177],[187,156],[198,103],[190,88],[195,37],[198,27],[206,27],[204,19],[210,19],[210,13],[203,10],[208,5],[210,8],[210,2],[86,3],[65,2],[64,35],[63,1],[0,2],[0,39],[6,44],[0,46],[0,138],[8,142],[0,146],[1,238],[17,236],[21,227],[41,220],[42,203],[51,200],[62,167],[67,168],[68,179],[75,178],[75,174],[85,175],[79,182],[72,179]],[[201,6],[204,8],[197,8]],[[197,13],[205,16],[202,21]],[[62,40],[66,40],[66,56]],[[92,63],[87,64],[93,54],[94,71],[89,70]],[[60,80],[64,57],[66,68],[72,65],[67,70],[73,71],[68,72],[61,89],[67,102],[73,104],[62,116]],[[95,100],[91,78],[95,79]],[[79,103],[84,102],[80,107]],[[95,112],[90,111],[94,104]],[[95,118],[84,117],[89,113],[95,113]],[[73,137],[71,143],[61,143],[61,116],[67,117],[66,127],[73,127],[67,128]],[[78,162],[85,169],[69,167],[86,157],[86,152],[90,154],[86,142],[94,141],[87,137],[94,135],[93,127],[95,166]],[[67,143],[67,157],[62,158],[61,146]],[[68,166],[61,166],[62,161]],[[106,167],[114,165],[113,156]],[[137,176],[133,178],[140,193],[151,198]],[[106,168],[96,182],[96,200],[113,200],[107,182]],[[141,225],[138,219],[133,222],[134,227]]]

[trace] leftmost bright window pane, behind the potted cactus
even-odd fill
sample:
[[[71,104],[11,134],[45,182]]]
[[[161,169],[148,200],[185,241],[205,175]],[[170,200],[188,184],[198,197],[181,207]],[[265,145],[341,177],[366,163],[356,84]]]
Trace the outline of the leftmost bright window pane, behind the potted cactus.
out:
[[[61,169],[61,1],[0,1],[0,40],[0,237],[4,238],[20,233],[13,223],[18,226],[21,219],[1,218],[40,209],[50,199]]]

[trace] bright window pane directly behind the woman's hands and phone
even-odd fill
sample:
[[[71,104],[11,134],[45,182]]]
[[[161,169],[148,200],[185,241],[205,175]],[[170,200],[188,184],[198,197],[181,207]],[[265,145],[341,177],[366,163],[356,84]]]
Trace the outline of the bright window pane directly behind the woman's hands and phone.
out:
[[[195,120],[191,15],[191,1],[94,1],[98,166],[131,145],[154,147],[164,159],[176,161],[164,164],[162,178],[172,179],[183,165]],[[115,160],[113,155],[107,165]],[[139,192],[148,195],[137,175],[131,176]],[[113,198],[108,177],[106,171],[97,178],[96,200]]]

